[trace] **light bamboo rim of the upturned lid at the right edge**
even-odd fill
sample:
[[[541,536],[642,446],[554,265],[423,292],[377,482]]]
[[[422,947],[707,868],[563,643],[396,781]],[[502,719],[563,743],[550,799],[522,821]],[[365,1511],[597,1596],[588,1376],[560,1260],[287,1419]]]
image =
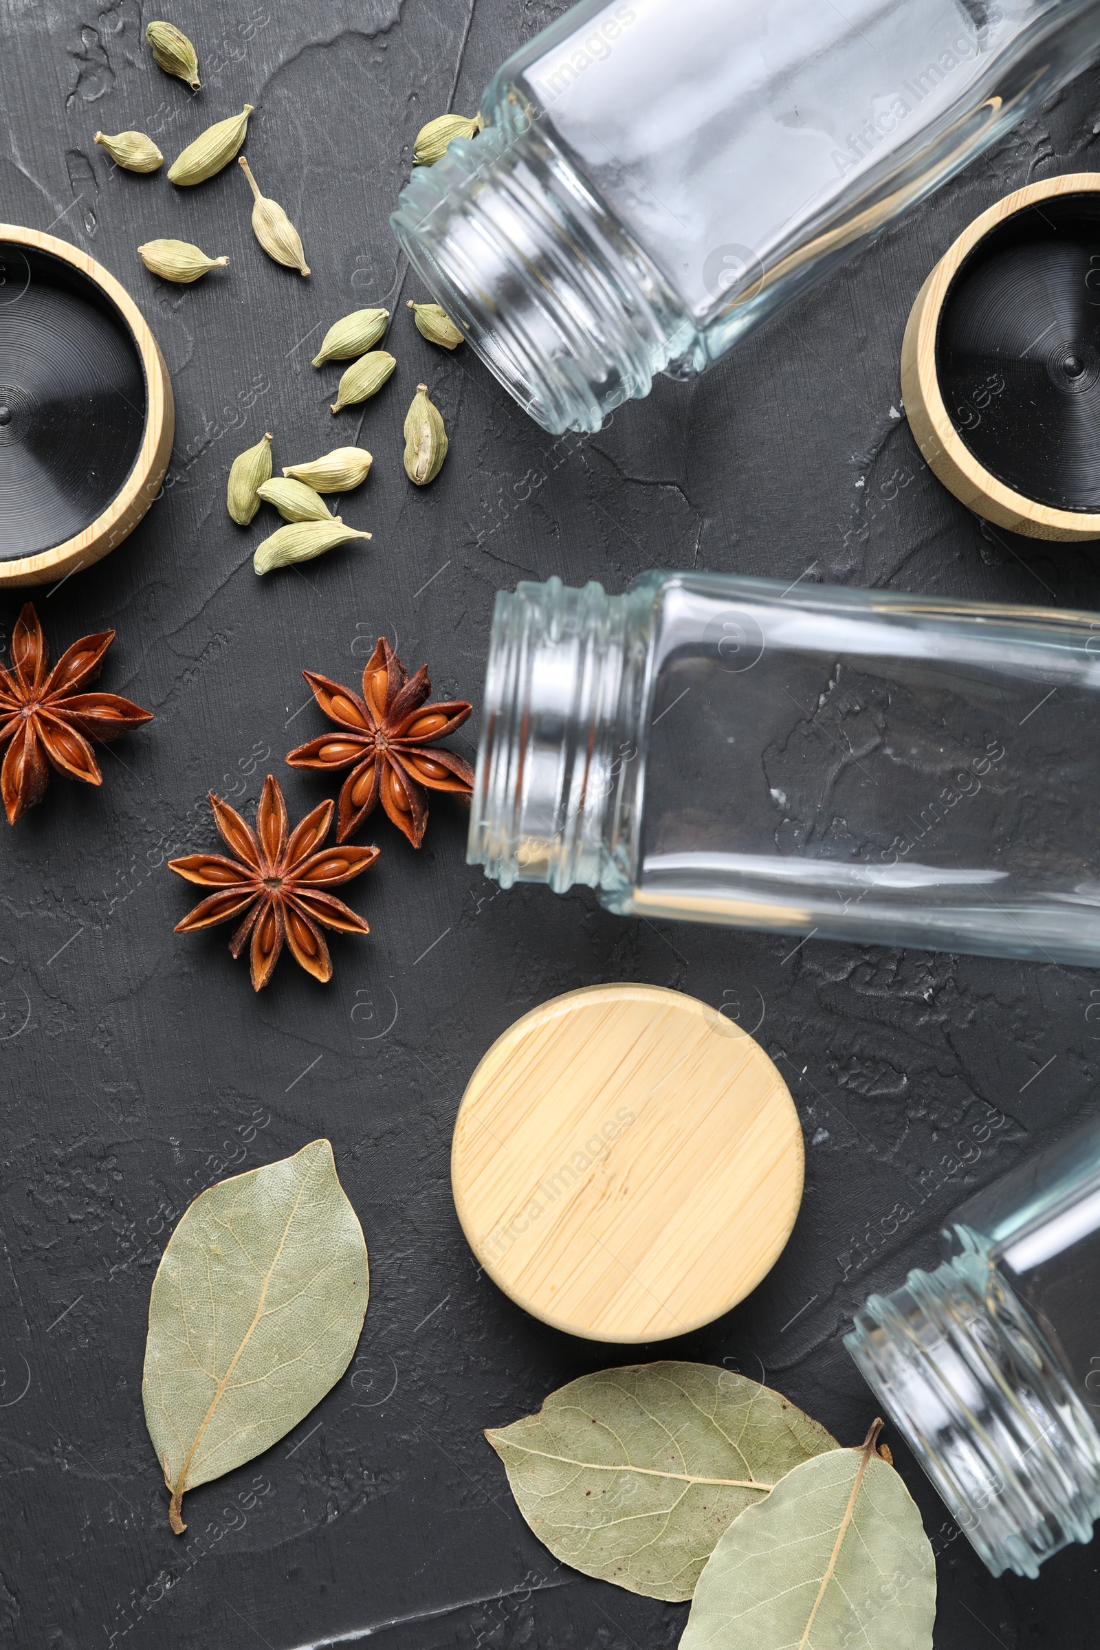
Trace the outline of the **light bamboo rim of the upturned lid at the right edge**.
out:
[[[1006,195],[990,206],[958,236],[935,266],[909,315],[902,343],[902,398],[905,417],[917,446],[937,478],[955,493],[968,510],[994,521],[998,526],[1022,533],[1027,538],[1084,541],[1100,538],[1100,512],[1065,510],[1039,498],[1027,497],[1018,487],[998,480],[975,457],[963,434],[952,419],[940,383],[942,323],[950,309],[953,285],[963,266],[973,254],[981,256],[981,243],[994,233],[1013,233],[1009,219],[1029,208],[1047,211],[1062,206],[1072,196],[1097,201],[1100,173],[1074,172],[1060,178],[1031,183],[1027,188]],[[1095,208],[1092,208],[1095,213]],[[1055,325],[1054,312],[1036,325],[1036,345],[1041,345],[1044,328]],[[973,416],[973,414],[971,414]],[[1100,464],[1100,454],[1098,454]]]

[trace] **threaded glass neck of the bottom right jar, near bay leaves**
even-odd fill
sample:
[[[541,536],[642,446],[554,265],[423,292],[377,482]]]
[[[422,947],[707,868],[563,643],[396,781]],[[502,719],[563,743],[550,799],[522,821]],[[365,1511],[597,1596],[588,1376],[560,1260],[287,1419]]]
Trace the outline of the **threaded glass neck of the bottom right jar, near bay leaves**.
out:
[[[994,1576],[1092,1539],[1100,1434],[983,1252],[872,1295],[844,1345]]]

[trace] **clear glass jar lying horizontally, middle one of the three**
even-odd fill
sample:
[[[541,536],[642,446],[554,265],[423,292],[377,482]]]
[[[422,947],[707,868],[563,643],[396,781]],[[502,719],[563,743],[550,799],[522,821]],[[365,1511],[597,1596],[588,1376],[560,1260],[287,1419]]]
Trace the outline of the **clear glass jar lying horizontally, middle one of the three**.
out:
[[[716,573],[519,584],[467,858],[623,916],[1097,965],[1098,719],[1100,615]]]

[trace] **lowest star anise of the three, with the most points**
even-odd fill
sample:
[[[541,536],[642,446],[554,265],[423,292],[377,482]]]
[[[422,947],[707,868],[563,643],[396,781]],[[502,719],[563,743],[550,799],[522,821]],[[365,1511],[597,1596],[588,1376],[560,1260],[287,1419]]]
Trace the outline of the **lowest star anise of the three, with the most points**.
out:
[[[287,822],[282,787],[269,774],[256,810],[256,830],[236,808],[211,790],[214,823],[229,845],[234,860],[221,853],[188,853],[168,860],[168,868],[188,883],[219,889],[176,922],[176,934],[214,927],[242,916],[229,950],[239,957],[251,945],[252,985],[267,985],[279,962],[285,939],[290,955],[315,980],[331,980],[331,959],[322,927],[341,934],[369,934],[368,924],[327,893],[366,871],[378,858],[378,848],[322,848],[331,825],[333,805],[322,802],[307,813],[294,833]]]

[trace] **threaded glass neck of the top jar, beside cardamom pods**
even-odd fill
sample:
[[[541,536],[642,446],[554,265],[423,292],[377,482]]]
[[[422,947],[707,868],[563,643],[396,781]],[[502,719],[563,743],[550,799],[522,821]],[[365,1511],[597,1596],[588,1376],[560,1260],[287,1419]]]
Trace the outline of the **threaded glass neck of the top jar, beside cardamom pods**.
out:
[[[599,429],[699,348],[653,264],[538,122],[452,142],[414,170],[391,224],[490,371],[556,436]]]

